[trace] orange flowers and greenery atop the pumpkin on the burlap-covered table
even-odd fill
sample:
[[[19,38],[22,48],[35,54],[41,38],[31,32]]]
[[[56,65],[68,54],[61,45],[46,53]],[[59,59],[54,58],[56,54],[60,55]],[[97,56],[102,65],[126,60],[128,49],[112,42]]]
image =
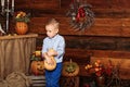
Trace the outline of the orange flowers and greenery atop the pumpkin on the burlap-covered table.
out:
[[[20,11],[16,13],[15,15],[15,21],[16,22],[25,22],[25,23],[28,23],[30,22],[30,13],[26,14],[25,12],[23,11]]]

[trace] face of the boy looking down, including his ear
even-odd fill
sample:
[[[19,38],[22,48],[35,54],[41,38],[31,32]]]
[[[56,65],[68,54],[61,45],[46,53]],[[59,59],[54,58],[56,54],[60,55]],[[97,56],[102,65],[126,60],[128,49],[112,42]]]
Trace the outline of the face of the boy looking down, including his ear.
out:
[[[58,29],[56,29],[53,25],[46,26],[46,30],[50,38],[53,38],[58,33]]]

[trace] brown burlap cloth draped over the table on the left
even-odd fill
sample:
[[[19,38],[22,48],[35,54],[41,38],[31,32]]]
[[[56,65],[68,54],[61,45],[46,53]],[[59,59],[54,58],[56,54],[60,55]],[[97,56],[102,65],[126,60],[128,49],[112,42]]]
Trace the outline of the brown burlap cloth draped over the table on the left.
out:
[[[28,74],[36,34],[0,37],[0,78],[13,72]]]

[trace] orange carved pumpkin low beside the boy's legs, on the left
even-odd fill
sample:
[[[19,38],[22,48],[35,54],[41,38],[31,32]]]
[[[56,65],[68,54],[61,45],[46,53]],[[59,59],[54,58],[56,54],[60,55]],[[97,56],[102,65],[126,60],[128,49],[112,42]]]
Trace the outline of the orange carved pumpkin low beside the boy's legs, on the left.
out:
[[[43,61],[32,61],[30,64],[30,71],[35,75],[44,74],[44,62]]]

